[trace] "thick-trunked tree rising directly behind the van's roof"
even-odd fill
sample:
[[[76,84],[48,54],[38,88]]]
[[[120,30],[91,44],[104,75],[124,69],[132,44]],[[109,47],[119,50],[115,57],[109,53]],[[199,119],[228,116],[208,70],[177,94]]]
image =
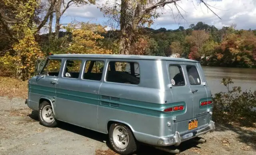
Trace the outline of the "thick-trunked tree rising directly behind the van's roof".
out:
[[[171,4],[180,14],[180,6],[177,1],[180,0],[114,0],[113,3],[108,1],[101,10],[114,19],[120,27],[119,53],[130,54],[130,47],[132,41],[136,40],[138,28],[144,25],[150,27],[154,19],[160,16],[156,11],[158,8],[164,8]],[[210,9],[204,0],[198,0],[198,3],[203,3]]]

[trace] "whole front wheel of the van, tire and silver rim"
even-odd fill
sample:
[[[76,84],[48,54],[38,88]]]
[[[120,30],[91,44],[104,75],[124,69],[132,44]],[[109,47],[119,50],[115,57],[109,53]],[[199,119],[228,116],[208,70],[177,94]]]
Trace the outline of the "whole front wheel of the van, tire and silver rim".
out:
[[[39,121],[42,125],[46,127],[56,127],[57,126],[57,121],[55,119],[53,110],[52,110],[52,105],[47,102],[43,101],[39,105]]]

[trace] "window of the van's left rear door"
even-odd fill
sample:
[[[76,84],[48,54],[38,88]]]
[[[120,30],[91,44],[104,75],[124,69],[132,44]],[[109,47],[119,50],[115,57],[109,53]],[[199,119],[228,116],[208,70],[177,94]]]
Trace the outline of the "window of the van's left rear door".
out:
[[[170,72],[170,76],[171,76],[171,83],[173,86],[185,85],[182,68],[179,65],[169,66],[169,72]]]

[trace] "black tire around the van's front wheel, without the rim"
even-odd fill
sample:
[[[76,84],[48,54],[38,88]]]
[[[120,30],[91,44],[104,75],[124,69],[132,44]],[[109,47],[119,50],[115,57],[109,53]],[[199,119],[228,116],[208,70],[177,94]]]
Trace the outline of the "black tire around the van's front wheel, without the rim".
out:
[[[54,113],[52,111],[52,119],[48,120],[44,120],[44,117],[42,116],[43,113],[43,109],[44,108],[51,108],[52,109],[52,105],[47,102],[47,101],[43,101],[40,105],[39,105],[39,113],[38,113],[38,118],[39,121],[42,125],[46,126],[46,127],[56,127],[57,126],[57,120],[55,119]]]

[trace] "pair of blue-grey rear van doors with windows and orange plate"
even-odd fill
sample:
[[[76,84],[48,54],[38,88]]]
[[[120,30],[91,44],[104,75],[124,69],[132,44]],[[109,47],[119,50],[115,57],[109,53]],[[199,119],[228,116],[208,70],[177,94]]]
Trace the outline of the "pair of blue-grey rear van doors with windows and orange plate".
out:
[[[178,131],[187,131],[208,124],[211,94],[209,87],[205,85],[206,79],[200,63],[168,62],[167,65],[172,83],[173,102],[185,104],[184,111],[173,113],[176,117],[175,123],[180,122],[177,126]],[[194,123],[191,123],[192,121]]]

